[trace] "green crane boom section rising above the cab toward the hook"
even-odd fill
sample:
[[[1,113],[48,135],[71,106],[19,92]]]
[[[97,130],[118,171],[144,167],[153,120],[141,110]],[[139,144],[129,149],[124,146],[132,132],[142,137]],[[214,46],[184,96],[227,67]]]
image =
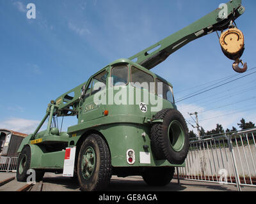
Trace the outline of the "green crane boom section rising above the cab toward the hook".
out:
[[[225,17],[221,17],[221,12],[227,12],[225,13]],[[231,0],[223,6],[223,11],[221,8],[217,8],[205,17],[188,25],[188,27],[164,38],[164,40],[159,41],[129,59],[147,69],[152,69],[190,41],[214,31],[227,29],[230,22],[234,22],[243,13],[244,7],[241,5],[241,0]]]

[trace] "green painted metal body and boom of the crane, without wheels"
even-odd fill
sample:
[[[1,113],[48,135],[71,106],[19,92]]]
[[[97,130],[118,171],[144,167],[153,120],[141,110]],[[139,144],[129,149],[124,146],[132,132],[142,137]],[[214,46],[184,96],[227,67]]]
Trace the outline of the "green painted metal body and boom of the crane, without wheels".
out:
[[[159,98],[155,93],[145,92],[142,89],[138,90],[138,88],[133,87],[131,84],[131,68],[134,66],[144,73],[151,75],[155,82],[158,78],[172,87],[172,84],[152,73],[149,69],[164,61],[168,55],[183,47],[189,41],[200,38],[213,31],[226,29],[231,20],[243,14],[244,10],[241,6],[241,0],[233,0],[232,2],[228,2],[227,5],[228,18],[221,20],[218,18],[220,10],[212,11],[212,13],[196,21],[194,24],[159,41],[152,47],[132,56],[130,59],[118,59],[112,62],[90,77],[88,82],[84,82],[58,97],[53,104],[49,104],[47,113],[35,132],[22,141],[18,152],[21,152],[26,145],[29,145],[31,148],[31,168],[61,170],[63,169],[65,148],[81,147],[81,143],[86,136],[91,133],[98,133],[108,144],[111,152],[111,162],[114,167],[184,166],[185,164],[178,165],[171,164],[167,160],[157,160],[154,156],[150,147],[150,126],[154,122],[163,121],[153,120],[153,116],[156,115],[156,111],[153,110],[155,107],[154,104],[147,106],[147,112],[141,112],[139,104],[135,101],[136,91],[141,92],[141,98],[143,98],[143,94],[146,94],[148,98],[161,101],[162,109],[177,109],[177,106],[175,106],[175,103]],[[159,48],[149,53],[150,50],[156,47]],[[137,59],[137,61],[134,62],[134,59]],[[118,93],[121,94],[119,89],[114,90],[111,87],[109,83],[111,81],[108,80],[111,77],[113,67],[120,64],[127,66],[129,69],[129,80],[122,88],[122,93],[124,93],[122,96],[126,96],[127,98],[126,103],[114,105],[111,103],[113,99],[107,97],[105,105],[98,105],[96,104],[97,101],[95,103],[93,95],[88,97],[81,96],[81,92],[88,89],[93,77],[102,73],[102,71],[106,71],[107,73],[106,90],[99,91],[98,94],[100,92],[102,92],[102,96],[104,94],[109,96],[109,92],[113,92],[113,96],[116,96]],[[129,102],[132,102],[132,104]],[[108,110],[108,115],[104,115],[105,110]],[[54,131],[51,131],[51,119],[54,115],[77,115],[77,125],[69,127],[67,133],[52,134]],[[38,133],[38,130],[44,124],[47,117],[50,118],[47,129]],[[127,163],[126,158],[126,153],[129,149],[133,149],[135,152],[135,163],[132,165]],[[77,149],[76,155],[78,152],[79,149]],[[140,163],[140,152],[148,152],[150,154],[150,163]]]

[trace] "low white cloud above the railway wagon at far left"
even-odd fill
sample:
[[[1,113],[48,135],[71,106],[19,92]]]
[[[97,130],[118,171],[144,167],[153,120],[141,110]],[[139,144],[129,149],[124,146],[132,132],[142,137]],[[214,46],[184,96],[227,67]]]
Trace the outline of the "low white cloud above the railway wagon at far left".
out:
[[[40,121],[20,118],[9,118],[0,121],[0,128],[11,129],[20,133],[30,134],[35,131]]]

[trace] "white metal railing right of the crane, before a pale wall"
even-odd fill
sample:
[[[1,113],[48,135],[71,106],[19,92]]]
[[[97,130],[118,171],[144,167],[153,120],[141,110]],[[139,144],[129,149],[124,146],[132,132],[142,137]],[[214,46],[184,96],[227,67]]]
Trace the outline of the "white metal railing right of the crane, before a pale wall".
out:
[[[256,128],[232,135],[204,136],[189,143],[185,168],[179,179],[256,187]]]

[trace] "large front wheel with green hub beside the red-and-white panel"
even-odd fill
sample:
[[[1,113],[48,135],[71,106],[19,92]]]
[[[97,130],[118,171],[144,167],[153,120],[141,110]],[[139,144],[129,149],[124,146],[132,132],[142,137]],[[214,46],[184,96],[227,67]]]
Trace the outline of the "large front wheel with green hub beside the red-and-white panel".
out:
[[[96,134],[86,138],[79,151],[77,177],[83,191],[106,189],[112,175],[111,156],[106,142]]]

